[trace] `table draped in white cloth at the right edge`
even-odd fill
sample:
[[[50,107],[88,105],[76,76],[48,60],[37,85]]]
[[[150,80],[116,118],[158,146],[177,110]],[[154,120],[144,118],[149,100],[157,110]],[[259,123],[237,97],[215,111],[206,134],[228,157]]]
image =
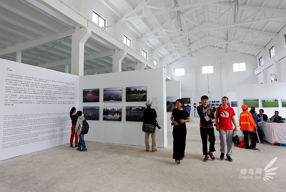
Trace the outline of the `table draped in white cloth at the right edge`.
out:
[[[286,143],[286,122],[274,123],[261,121],[261,130],[264,133],[263,140],[272,145],[274,143]]]

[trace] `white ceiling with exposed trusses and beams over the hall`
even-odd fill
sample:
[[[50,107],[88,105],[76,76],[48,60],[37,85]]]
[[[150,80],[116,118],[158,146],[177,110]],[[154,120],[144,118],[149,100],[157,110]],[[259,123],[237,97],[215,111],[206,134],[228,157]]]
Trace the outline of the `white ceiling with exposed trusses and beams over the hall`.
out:
[[[75,21],[41,3],[41,0],[0,0],[0,57],[15,61],[16,51],[22,50],[22,63],[64,72],[65,64],[70,64]],[[286,0],[97,0],[97,3],[137,41],[158,55],[160,62],[167,64],[218,52],[257,56],[286,24]],[[204,52],[202,49],[207,46],[214,47],[214,51]],[[112,50],[114,45],[95,35],[89,38],[85,43],[84,74],[112,72],[112,56],[100,54]],[[122,71],[135,70],[135,64],[136,59],[126,57]]]

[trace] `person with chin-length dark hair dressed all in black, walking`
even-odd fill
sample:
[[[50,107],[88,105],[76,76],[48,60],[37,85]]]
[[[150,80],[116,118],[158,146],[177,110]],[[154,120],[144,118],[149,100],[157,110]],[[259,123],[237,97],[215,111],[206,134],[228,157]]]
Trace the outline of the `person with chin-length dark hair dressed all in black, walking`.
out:
[[[190,121],[188,112],[183,108],[184,102],[181,99],[176,100],[176,109],[173,110],[171,121],[173,122],[173,159],[175,163],[180,163],[180,160],[185,157],[186,148],[186,135],[187,128],[186,122]]]

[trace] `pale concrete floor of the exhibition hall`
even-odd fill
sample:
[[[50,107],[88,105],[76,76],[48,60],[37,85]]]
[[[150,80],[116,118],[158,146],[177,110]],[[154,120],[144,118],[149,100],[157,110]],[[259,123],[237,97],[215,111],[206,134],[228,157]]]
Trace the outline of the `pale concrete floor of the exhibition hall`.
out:
[[[187,123],[186,157],[181,164],[172,159],[172,133],[168,147],[154,153],[142,146],[97,142],[86,142],[88,151],[79,152],[66,144],[0,161],[0,191],[286,191],[285,147],[266,141],[265,151],[233,147],[233,162],[222,161],[215,131],[216,160],[204,162],[198,125],[198,118]],[[271,171],[277,174],[264,181],[264,168],[275,157],[270,168],[278,167]],[[247,170],[245,175],[242,169]],[[261,175],[255,175],[256,169],[262,169]]]

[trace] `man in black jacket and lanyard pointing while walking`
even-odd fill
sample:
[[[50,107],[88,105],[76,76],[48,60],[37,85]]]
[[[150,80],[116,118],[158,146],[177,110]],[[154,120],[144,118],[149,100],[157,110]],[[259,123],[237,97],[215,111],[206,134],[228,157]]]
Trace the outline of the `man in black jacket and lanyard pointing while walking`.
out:
[[[208,96],[200,98],[202,104],[197,106],[197,112],[200,116],[200,137],[202,138],[202,153],[205,156],[204,162],[208,161],[208,155],[215,160],[212,152],[215,150],[215,132],[213,123],[215,122],[214,107],[208,106]],[[208,142],[210,143],[208,151]]]

